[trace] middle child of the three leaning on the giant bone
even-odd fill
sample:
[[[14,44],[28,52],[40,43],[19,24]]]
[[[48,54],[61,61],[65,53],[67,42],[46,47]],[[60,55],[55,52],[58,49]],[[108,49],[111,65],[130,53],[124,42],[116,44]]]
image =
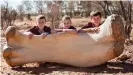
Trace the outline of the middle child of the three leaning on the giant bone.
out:
[[[72,26],[71,18],[69,16],[64,16],[62,18],[59,29],[55,29],[57,32],[70,32],[75,33],[76,28]]]

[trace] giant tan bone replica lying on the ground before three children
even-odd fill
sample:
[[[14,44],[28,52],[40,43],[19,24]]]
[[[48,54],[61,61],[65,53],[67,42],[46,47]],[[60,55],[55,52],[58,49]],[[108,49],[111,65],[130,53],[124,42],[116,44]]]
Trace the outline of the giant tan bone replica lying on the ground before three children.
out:
[[[28,39],[27,34],[10,26],[5,34],[7,44],[3,57],[12,67],[31,62],[96,66],[119,56],[125,41],[122,19],[115,14],[105,20],[99,33],[62,32],[50,34],[44,39],[40,35]]]

